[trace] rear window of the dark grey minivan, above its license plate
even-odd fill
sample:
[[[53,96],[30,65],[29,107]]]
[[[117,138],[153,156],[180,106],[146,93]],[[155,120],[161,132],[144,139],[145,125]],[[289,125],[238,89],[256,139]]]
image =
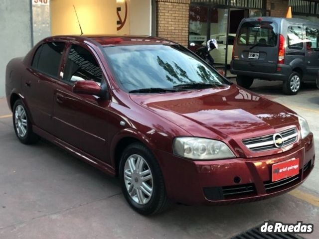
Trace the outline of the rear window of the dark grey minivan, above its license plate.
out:
[[[278,25],[271,21],[250,21],[241,25],[237,37],[238,45],[277,45]]]

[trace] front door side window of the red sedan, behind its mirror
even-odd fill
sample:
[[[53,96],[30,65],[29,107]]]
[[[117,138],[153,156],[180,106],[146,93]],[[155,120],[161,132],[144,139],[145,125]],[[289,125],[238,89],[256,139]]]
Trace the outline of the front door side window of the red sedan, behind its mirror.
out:
[[[102,70],[94,56],[87,49],[72,45],[63,73],[63,81],[74,84],[77,81],[93,80],[101,84]]]

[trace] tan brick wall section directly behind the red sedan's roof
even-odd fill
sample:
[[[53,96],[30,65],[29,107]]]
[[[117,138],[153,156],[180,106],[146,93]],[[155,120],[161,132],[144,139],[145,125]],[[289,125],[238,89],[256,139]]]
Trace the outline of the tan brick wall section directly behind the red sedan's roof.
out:
[[[190,0],[156,0],[156,35],[187,46],[189,3]]]

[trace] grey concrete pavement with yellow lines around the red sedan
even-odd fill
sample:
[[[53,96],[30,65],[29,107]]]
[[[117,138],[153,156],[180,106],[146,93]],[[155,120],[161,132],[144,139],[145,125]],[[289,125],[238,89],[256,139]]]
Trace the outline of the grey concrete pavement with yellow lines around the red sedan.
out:
[[[310,86],[298,96],[284,96],[278,83],[268,85],[256,82],[252,90],[308,119],[319,142],[319,90]],[[143,217],[125,202],[117,179],[46,141],[19,143],[4,99],[0,113],[0,239],[227,239],[265,220],[313,223],[315,232],[303,237],[319,238],[318,163],[290,194],[230,206],[174,205]]]

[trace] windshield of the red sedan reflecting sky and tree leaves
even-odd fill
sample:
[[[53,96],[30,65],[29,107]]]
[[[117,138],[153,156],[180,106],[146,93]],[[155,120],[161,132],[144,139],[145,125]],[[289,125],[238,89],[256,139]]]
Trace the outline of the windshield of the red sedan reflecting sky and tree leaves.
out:
[[[178,45],[112,46],[104,50],[116,80],[128,92],[195,83],[230,84]]]

